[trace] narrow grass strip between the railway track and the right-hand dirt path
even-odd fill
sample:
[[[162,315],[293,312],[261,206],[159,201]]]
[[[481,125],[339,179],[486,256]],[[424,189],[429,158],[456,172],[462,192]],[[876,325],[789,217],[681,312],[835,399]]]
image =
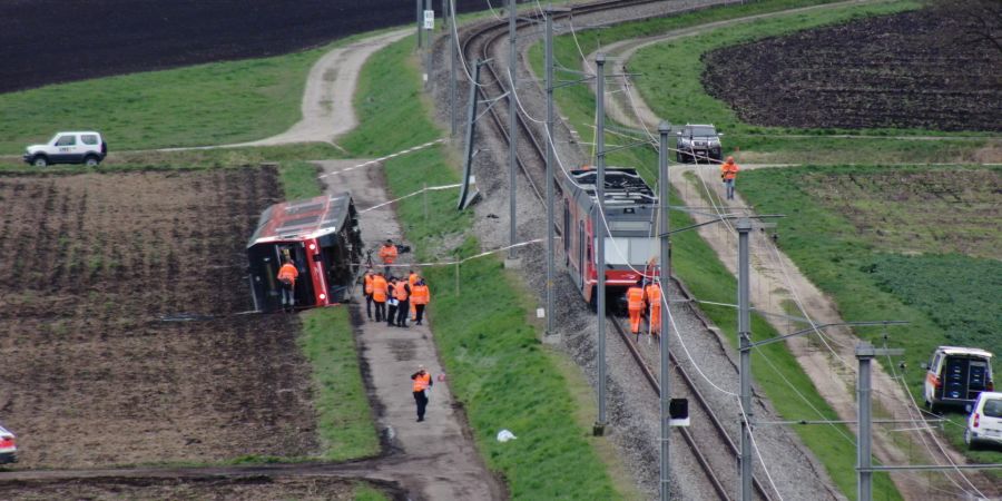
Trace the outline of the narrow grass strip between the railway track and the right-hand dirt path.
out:
[[[748,14],[778,8],[793,7],[793,2],[762,2],[753,6],[735,8],[737,13],[728,9],[710,9],[690,14],[662,20],[649,20],[601,30],[598,35],[579,32],[578,40],[586,53],[597,48],[596,36],[601,36],[603,43],[619,39],[635,38],[659,29],[685,28],[721,18]],[[796,2],[803,4],[804,2]],[[667,28],[665,26],[668,26]],[[636,27],[637,30],[630,30]],[[560,37],[557,47],[558,61],[580,60],[573,39]],[[542,58],[539,47],[532,49],[531,62],[538,75],[542,75]],[[571,125],[579,131],[590,131],[595,116],[595,96],[583,87],[561,89],[557,94],[561,114],[569,117]],[[587,134],[582,140],[590,141]],[[619,138],[607,138],[608,143],[623,143]],[[657,155],[651,149],[633,148],[619,150],[608,158],[609,165],[636,166],[644,177],[655,180]],[[655,184],[651,183],[651,186]],[[681,204],[676,193],[671,203]],[[692,224],[684,213],[672,213],[672,227]],[[714,256],[714,250],[695,232],[684,232],[672,237],[672,266],[676,274],[686,283],[692,294],[700,299],[734,303],[737,283],[727,268]],[[737,344],[736,311],[729,307],[713,305],[703,306],[707,316],[721,328],[733,346]],[[768,338],[778,333],[763,318],[753,315],[753,333],[756,338]],[[817,393],[809,377],[804,373],[796,358],[782,343],[765,346],[753,355],[753,375],[758,387],[769,397],[777,412],[788,420],[837,420],[837,414]],[[848,498],[855,498],[855,438],[844,425],[797,426],[795,431],[803,442],[811,448],[824,464],[837,488]],[[896,488],[886,474],[875,475],[875,492],[886,499],[901,499]]]

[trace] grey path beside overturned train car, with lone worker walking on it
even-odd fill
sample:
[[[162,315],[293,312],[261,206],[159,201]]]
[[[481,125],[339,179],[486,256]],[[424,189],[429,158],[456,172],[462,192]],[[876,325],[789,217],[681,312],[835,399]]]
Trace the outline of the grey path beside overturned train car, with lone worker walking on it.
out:
[[[355,164],[355,160],[318,163],[327,174],[325,181],[331,189],[350,190],[358,210],[386,202],[383,170],[372,166],[341,171]],[[403,234],[392,205],[363,212],[361,218],[366,247],[377,247],[386,238],[399,239]],[[404,254],[401,262],[407,263],[411,256]],[[404,264],[393,273],[405,276],[407,271]],[[357,307],[356,317],[363,320],[361,298]],[[429,324],[430,321],[425,325],[400,328],[363,320],[357,327],[364,365],[370,369],[369,387],[379,402],[380,428],[386,430],[393,448],[400,449],[400,458],[405,460],[395,465],[394,474],[410,492],[420,493],[424,499],[504,499],[501,483],[488,472],[477,453],[448,379],[439,377],[444,374]],[[428,415],[421,423],[415,422],[410,380],[418,364],[424,364],[435,377]]]

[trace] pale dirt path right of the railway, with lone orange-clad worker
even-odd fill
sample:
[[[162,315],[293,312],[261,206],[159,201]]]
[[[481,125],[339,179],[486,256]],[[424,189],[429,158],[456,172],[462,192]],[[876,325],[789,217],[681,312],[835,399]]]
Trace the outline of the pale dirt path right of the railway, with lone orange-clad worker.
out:
[[[676,31],[662,33],[657,37],[629,40],[608,46],[603,49],[607,56],[617,59],[621,67],[617,71],[626,72],[626,67],[630,57],[639,49],[659,43],[667,40],[674,40],[684,37],[690,37],[703,33],[705,31],[720,28],[724,26],[735,24],[739,22],[749,22],[756,19],[785,16],[792,12],[803,12],[816,9],[827,9],[846,3],[865,3],[859,1],[843,2],[825,6],[815,6],[804,9],[794,9],[790,11],[775,12],[768,14],[753,16],[741,19],[733,19],[727,21],[718,21],[699,27],[687,28]],[[595,55],[588,56],[589,61],[595,60]],[[590,62],[583,66],[587,68]],[[635,88],[627,88],[627,85],[620,80],[615,84],[621,92],[611,92],[611,99],[607,99],[609,104],[607,110],[611,117],[630,127],[647,128],[654,130],[660,119],[641,99],[639,92]],[[619,90],[610,89],[610,90]],[[593,89],[592,89],[593,90]],[[923,138],[934,139],[934,138]],[[756,166],[766,167],[766,166]],[[782,167],[782,166],[773,166]],[[695,173],[696,177],[686,176],[687,173]],[[735,200],[730,203],[721,203],[723,189],[718,179],[716,166],[684,166],[671,168],[671,183],[682,195],[685,205],[690,207],[709,206],[707,190],[714,193],[713,200],[719,204],[719,210],[727,213],[745,213],[753,214],[753,210],[746,209],[747,205],[736,195]],[[708,209],[713,212],[713,209]],[[710,219],[709,216],[695,216],[697,223]],[[731,273],[736,273],[737,263],[737,234],[731,227],[725,225],[711,225],[699,228],[700,236],[714,248],[717,256],[724,262]],[[796,267],[789,257],[782,253],[772,242],[764,238],[765,234],[755,232],[753,236],[753,267],[752,267],[752,287],[753,287],[753,305],[754,307],[779,315],[788,314],[786,308],[792,306],[798,313],[795,315],[806,315],[814,321],[815,324],[822,323],[839,323],[843,322],[838,314],[835,303],[824,295],[814,286]],[[787,321],[777,316],[766,317],[778,332],[792,331]],[[881,318],[852,318],[852,320],[881,320]],[[796,325],[793,331],[808,325]],[[828,328],[825,331],[826,336],[819,338],[816,335],[798,337],[789,341],[788,347],[797,357],[804,371],[808,374],[814,385],[825,400],[835,409],[839,418],[843,420],[855,420],[855,355],[854,348],[858,338],[846,328]],[[823,340],[821,342],[818,340]],[[892,419],[896,420],[915,420],[920,419],[920,412],[912,404],[908,395],[902,389],[901,384],[894,380],[887,371],[883,369],[880,361],[874,364],[874,396],[877,400],[878,409],[886,411]],[[934,464],[946,464],[943,460],[943,449],[946,448],[949,455],[956,463],[964,463],[965,460],[956,451],[949,449],[949,445],[940,436],[925,432],[906,432],[910,442],[914,442],[914,450],[906,451],[901,445],[895,444],[892,438],[885,433],[874,434],[874,453],[880,461],[886,464],[905,464],[915,462],[925,462]],[[901,436],[898,436],[898,440]],[[939,443],[936,443],[939,442]],[[942,445],[941,445],[942,444]],[[912,449],[912,445],[908,445]],[[918,452],[915,452],[918,451]],[[911,452],[911,455],[910,455]],[[917,455],[917,458],[916,458]],[[960,475],[953,477],[950,482],[954,485],[962,485],[969,489],[966,481]],[[978,482],[976,473],[969,474]],[[917,473],[897,473],[892,477],[895,485],[905,497],[905,499],[924,499],[929,495],[930,475],[921,475]],[[942,478],[939,479],[943,484]],[[945,485],[939,485],[940,488]]]

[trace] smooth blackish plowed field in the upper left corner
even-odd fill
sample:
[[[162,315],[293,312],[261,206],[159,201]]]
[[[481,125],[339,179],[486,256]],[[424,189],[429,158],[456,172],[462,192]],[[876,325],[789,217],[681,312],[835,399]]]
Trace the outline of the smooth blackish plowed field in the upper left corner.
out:
[[[276,56],[414,22],[402,0],[3,0],[0,92]]]

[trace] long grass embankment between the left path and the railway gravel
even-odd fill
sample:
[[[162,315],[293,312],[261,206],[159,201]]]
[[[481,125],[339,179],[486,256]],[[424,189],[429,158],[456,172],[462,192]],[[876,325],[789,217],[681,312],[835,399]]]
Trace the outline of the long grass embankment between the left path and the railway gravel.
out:
[[[362,125],[342,143],[353,154],[386,154],[441,136],[420,97],[412,45],[411,39],[395,43],[373,56],[363,69],[356,97]],[[394,196],[412,193],[424,183],[432,186],[459,178],[444,147],[394,158],[385,170]],[[420,197],[397,204],[397,216],[419,259],[480,250],[478,240],[469,236],[472,214],[455,210],[455,191],[429,194],[426,219]],[[586,426],[577,421],[579,410],[558,355],[540,343],[537,327],[528,320],[531,299],[517,289],[500,259],[492,256],[463,265],[459,291],[454,267],[423,272],[432,287],[430,315],[453,393],[465,409],[478,449],[489,468],[504,477],[511,497],[633,497],[617,491],[589,444],[603,439],[588,439]],[[502,429],[519,439],[497,442],[494,435]]]

